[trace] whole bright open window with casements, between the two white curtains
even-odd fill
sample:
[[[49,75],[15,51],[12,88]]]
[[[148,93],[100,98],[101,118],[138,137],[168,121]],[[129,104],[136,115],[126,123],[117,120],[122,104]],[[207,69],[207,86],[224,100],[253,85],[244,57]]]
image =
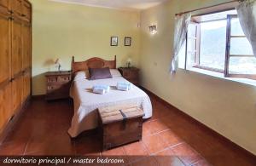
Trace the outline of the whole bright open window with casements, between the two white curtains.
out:
[[[256,58],[235,9],[192,17],[180,56],[185,69],[256,79]]]

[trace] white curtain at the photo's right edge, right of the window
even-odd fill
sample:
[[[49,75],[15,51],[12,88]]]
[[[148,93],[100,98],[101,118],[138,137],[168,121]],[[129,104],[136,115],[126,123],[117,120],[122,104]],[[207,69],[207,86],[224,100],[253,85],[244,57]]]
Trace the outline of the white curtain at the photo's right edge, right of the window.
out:
[[[245,0],[236,8],[241,28],[252,44],[256,56],[256,0]]]

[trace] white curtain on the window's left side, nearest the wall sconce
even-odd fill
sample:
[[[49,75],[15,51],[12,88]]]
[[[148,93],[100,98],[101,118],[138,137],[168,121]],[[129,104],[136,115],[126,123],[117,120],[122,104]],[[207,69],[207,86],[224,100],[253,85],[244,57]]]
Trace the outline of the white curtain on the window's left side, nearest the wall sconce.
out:
[[[186,33],[189,28],[189,22],[191,14],[178,15],[176,18],[175,30],[174,30],[174,44],[173,44],[173,56],[171,71],[175,73],[177,71],[177,55],[182,48],[184,41],[186,40]]]

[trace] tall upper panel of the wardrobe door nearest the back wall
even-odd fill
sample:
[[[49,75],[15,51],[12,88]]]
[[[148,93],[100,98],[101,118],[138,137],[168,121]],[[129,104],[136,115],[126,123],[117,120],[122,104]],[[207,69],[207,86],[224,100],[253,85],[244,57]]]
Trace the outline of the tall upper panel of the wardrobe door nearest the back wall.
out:
[[[22,26],[22,63],[23,70],[31,67],[31,28],[29,24]]]

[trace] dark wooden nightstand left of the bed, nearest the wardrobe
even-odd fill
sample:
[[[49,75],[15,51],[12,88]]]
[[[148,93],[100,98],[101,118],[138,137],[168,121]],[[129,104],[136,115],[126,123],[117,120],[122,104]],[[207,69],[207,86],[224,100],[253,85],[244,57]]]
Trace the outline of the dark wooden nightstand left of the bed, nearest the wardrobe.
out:
[[[69,97],[71,72],[46,72],[46,100],[65,99]]]

